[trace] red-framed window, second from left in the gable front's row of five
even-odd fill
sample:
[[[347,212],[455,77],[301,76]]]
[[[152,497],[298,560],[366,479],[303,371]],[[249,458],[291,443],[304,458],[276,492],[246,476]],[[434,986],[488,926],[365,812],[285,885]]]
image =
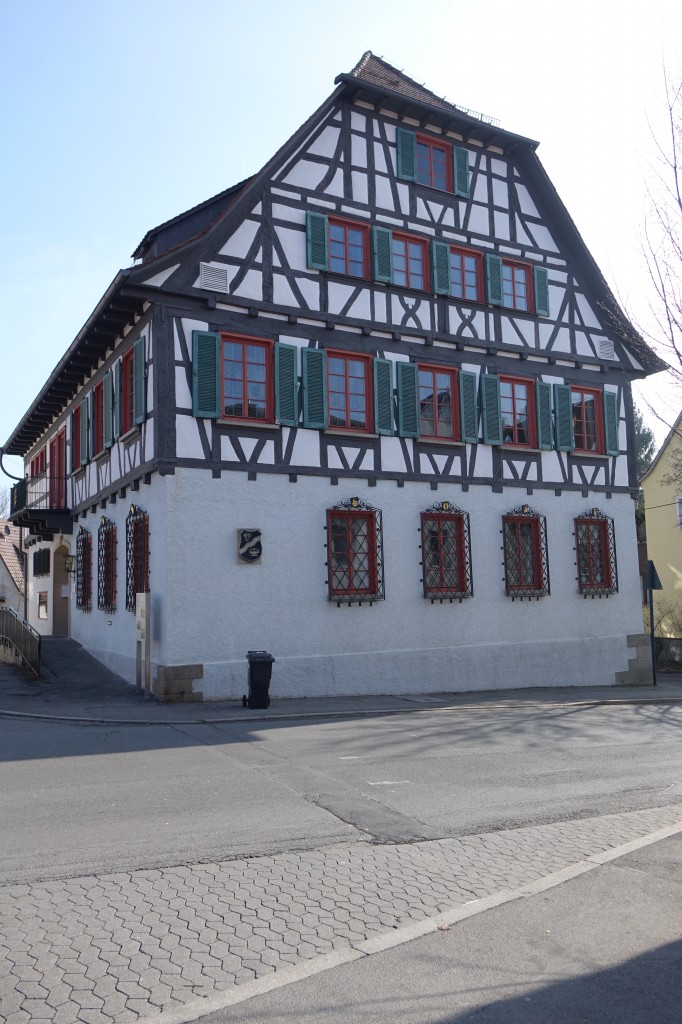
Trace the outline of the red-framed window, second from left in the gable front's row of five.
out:
[[[328,351],[327,407],[327,423],[333,430],[372,433],[374,402],[371,356],[358,352]],[[356,421],[360,414],[364,422]]]

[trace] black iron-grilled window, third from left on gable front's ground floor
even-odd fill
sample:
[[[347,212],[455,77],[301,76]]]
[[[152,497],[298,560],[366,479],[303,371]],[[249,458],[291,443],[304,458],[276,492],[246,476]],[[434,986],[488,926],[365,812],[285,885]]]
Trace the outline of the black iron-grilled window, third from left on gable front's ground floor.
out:
[[[547,519],[528,505],[502,517],[505,594],[512,601],[539,601],[550,594]]]

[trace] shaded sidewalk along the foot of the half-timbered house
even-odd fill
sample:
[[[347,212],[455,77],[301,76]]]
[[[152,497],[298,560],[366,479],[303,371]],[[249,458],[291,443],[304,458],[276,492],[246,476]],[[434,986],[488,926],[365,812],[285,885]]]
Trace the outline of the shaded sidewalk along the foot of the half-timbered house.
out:
[[[43,640],[44,679],[33,681],[0,663],[0,716],[37,717],[108,724],[248,722],[328,716],[390,715],[458,709],[527,708],[555,705],[682,702],[682,673],[659,674],[657,686],[565,686],[430,693],[401,696],[278,698],[276,671],[271,705],[252,710],[242,701],[160,705],[105,669],[74,641]],[[245,689],[247,664],[244,664]]]

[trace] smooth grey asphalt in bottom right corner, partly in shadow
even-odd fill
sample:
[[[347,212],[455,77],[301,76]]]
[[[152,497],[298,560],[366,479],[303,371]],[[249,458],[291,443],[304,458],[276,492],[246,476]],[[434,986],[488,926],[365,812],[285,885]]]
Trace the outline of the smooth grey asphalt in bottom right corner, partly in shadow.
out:
[[[679,1024],[681,865],[678,835],[202,1024]]]

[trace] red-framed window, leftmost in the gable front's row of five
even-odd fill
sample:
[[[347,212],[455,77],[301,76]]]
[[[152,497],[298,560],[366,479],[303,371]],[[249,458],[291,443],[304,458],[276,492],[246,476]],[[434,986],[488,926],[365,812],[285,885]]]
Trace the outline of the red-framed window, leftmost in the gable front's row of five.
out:
[[[273,350],[273,342],[268,339],[220,335],[220,419],[274,423]],[[228,390],[233,393],[228,394]],[[241,412],[228,411],[228,401],[239,402]]]

